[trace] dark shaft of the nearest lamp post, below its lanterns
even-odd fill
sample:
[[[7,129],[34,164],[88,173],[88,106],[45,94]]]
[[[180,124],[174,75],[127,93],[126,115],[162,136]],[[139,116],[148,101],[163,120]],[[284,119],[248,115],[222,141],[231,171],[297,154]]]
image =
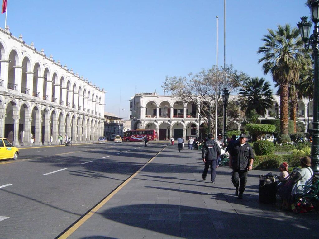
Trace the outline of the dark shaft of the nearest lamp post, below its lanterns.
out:
[[[314,41],[313,41],[313,54],[314,54],[314,65],[315,65],[315,79],[314,79],[314,114],[313,114],[313,130],[312,130],[312,147],[311,147],[311,160],[313,163],[312,169],[315,172],[319,172],[319,122],[318,122],[318,112],[319,112],[319,105],[318,105],[318,96],[319,96],[319,89],[318,89],[318,65],[319,65],[319,26],[315,23],[314,29]]]

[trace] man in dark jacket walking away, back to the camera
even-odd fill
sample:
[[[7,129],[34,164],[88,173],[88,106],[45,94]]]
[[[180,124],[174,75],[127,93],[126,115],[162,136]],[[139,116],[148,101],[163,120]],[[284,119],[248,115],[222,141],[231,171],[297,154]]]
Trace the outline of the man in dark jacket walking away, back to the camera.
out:
[[[211,166],[211,183],[215,183],[216,177],[216,160],[220,155],[220,148],[217,143],[213,140],[213,135],[208,135],[208,140],[204,143],[202,158],[205,163],[202,178],[206,180],[209,166]]]

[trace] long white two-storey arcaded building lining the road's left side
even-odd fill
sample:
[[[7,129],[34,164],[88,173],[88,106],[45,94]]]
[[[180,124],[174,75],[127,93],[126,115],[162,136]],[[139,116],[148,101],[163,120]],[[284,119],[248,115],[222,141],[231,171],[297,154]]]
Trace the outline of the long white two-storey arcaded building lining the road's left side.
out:
[[[105,91],[0,28],[0,137],[15,145],[56,144],[58,135],[103,135]]]

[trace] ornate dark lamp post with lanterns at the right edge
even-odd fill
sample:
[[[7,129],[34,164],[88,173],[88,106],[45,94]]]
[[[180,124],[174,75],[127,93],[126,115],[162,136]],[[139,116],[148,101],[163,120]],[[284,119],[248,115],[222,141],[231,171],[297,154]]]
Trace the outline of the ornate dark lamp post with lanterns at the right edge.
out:
[[[312,0],[308,1],[308,6],[311,11],[311,20],[315,24],[315,29],[313,34],[309,38],[311,22],[307,21],[307,17],[302,17],[301,22],[297,24],[301,39],[305,42],[305,48],[309,49],[309,46],[313,49],[313,56],[314,56],[314,113],[313,113],[313,139],[312,139],[312,146],[311,146],[311,161],[312,161],[312,169],[315,172],[319,172],[319,122],[318,122],[318,112],[319,112],[319,105],[318,105],[318,65],[319,65],[319,0]]]

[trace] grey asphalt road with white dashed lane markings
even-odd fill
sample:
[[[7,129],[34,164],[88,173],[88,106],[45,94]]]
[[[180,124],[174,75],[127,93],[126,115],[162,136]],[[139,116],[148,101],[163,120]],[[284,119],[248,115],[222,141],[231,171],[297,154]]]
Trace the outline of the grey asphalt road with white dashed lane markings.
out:
[[[167,143],[20,149],[0,161],[0,238],[56,238]]]

